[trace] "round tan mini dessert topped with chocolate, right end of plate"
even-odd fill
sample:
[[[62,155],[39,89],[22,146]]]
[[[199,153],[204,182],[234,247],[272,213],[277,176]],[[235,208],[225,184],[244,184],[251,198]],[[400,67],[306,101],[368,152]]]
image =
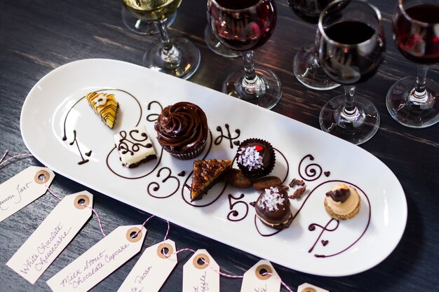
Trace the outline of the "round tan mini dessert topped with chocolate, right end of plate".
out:
[[[347,220],[358,214],[360,202],[360,195],[355,188],[337,183],[326,193],[325,210],[332,218]]]

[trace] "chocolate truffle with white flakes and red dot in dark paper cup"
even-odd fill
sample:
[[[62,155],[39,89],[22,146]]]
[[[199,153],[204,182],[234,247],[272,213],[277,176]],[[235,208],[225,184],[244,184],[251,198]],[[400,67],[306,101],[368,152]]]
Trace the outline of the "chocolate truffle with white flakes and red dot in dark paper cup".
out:
[[[269,174],[276,162],[273,146],[262,139],[247,139],[236,153],[236,163],[243,174],[258,178]]]

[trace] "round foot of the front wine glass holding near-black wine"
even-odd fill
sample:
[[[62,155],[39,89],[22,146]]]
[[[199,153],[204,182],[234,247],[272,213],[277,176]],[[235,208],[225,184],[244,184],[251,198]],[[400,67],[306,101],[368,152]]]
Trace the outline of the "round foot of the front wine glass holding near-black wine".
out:
[[[351,120],[342,114],[345,102],[346,98],[342,95],[323,106],[319,116],[320,128],[352,144],[363,144],[378,130],[379,112],[369,99],[356,95],[358,112]]]

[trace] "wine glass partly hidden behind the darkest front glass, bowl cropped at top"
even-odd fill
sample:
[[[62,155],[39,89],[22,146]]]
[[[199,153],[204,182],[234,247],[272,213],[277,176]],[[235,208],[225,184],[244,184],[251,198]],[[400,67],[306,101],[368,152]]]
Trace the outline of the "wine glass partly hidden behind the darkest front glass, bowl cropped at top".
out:
[[[320,12],[332,0],[288,0],[291,10],[302,20],[317,25]],[[314,43],[297,51],[292,62],[292,71],[300,83],[314,90],[331,90],[340,84],[327,77],[320,67],[317,56],[319,35]]]

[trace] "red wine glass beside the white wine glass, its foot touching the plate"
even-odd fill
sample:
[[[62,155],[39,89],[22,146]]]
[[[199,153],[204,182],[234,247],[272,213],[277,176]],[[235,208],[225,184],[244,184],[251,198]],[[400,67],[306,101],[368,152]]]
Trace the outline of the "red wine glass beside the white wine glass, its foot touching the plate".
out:
[[[255,66],[253,50],[269,40],[276,26],[274,0],[208,0],[210,28],[224,46],[242,53],[244,67],[227,77],[222,91],[266,109],[282,97],[282,84],[270,69]]]

